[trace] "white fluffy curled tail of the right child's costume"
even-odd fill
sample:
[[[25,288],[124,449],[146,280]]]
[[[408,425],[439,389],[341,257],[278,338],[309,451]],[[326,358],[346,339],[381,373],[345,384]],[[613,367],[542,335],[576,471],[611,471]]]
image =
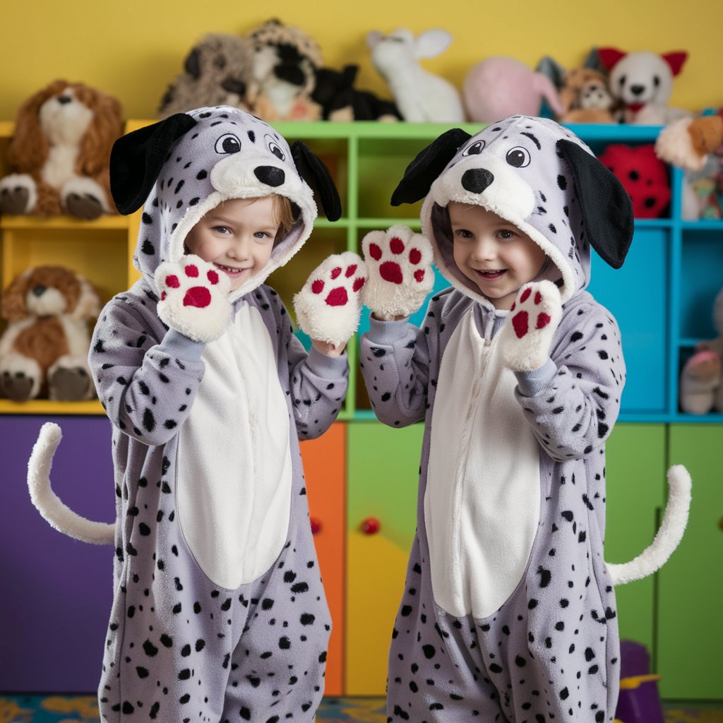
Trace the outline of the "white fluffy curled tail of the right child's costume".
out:
[[[683,538],[690,510],[690,474],[682,464],[668,470],[668,503],[660,529],[649,547],[630,562],[620,565],[608,563],[607,571],[614,585],[640,580],[662,568]]]

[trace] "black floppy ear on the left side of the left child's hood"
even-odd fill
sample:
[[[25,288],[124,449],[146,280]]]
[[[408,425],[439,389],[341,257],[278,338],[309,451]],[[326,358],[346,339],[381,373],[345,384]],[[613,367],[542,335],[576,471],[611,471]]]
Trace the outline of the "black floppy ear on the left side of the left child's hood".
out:
[[[119,213],[133,213],[145,203],[168,150],[196,122],[186,113],[176,113],[116,140],[111,149],[111,194]]]

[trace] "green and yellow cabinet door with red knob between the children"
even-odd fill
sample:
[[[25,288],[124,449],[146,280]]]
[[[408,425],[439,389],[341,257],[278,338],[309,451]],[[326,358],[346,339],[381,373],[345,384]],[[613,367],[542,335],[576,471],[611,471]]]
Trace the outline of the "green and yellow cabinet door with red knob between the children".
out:
[[[422,424],[350,422],[347,437],[348,696],[384,696],[389,643],[416,529]]]

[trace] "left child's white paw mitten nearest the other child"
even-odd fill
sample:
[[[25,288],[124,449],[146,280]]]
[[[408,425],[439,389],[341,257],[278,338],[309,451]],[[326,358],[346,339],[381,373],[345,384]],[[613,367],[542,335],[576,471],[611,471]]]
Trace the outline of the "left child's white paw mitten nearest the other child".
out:
[[[312,339],[334,346],[346,343],[359,327],[359,292],[367,268],[353,251],[333,254],[312,271],[294,295],[296,322]]]

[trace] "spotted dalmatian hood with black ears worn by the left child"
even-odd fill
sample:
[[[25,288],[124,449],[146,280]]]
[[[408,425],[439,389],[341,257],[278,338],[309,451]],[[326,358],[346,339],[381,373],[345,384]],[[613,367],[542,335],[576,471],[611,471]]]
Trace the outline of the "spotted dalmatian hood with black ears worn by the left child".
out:
[[[302,142],[289,147],[270,125],[230,106],[199,108],[129,133],[111,152],[111,192],[120,213],[143,205],[135,267],[154,288],[155,269],[179,261],[184,239],[225,200],[288,197],[298,209],[294,226],[265,268],[231,295],[239,298],[283,266],[311,234],[317,216],[312,184],[327,218],[341,202],[323,163]]]

